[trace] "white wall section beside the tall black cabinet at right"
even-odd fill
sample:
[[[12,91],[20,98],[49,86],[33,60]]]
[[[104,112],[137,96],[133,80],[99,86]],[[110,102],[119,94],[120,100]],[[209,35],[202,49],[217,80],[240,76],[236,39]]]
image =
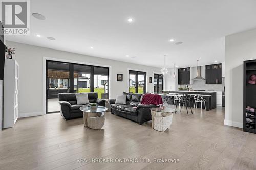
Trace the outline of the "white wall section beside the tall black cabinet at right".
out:
[[[243,128],[243,61],[256,59],[256,29],[226,36],[225,125]]]

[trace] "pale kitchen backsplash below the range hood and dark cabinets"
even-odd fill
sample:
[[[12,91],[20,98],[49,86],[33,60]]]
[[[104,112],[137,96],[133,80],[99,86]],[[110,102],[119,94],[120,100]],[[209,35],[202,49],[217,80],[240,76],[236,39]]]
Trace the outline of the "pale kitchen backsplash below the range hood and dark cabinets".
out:
[[[185,88],[185,85],[179,85]],[[188,87],[192,90],[214,90],[221,91],[221,84],[205,84],[205,80],[194,80],[193,84],[188,84]]]

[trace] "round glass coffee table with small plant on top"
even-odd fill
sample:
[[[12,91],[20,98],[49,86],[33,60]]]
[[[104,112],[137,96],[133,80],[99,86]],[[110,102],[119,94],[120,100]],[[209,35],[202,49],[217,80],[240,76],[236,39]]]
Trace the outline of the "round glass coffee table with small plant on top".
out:
[[[105,111],[108,108],[97,106],[96,110],[91,110],[91,106],[82,106],[80,110],[83,112],[83,125],[91,129],[101,129],[105,123]]]

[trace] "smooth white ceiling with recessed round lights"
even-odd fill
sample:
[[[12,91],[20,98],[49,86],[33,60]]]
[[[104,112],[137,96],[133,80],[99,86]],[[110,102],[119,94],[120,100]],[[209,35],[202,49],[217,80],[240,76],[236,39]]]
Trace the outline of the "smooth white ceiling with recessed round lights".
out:
[[[225,36],[256,27],[255,0],[33,0],[30,9],[46,20],[31,15],[31,35],[7,40],[156,67],[164,54],[169,67],[224,61]]]

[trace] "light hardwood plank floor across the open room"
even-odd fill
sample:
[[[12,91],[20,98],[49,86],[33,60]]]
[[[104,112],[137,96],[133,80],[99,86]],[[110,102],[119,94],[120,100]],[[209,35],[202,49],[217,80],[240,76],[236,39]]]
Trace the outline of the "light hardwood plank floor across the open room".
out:
[[[174,114],[158,132],[106,112],[103,129],[59,113],[0,131],[0,169],[256,169],[256,134],[223,125],[224,110]],[[242,113],[241,113],[242,114]],[[77,163],[78,158],[166,158],[179,163]]]

